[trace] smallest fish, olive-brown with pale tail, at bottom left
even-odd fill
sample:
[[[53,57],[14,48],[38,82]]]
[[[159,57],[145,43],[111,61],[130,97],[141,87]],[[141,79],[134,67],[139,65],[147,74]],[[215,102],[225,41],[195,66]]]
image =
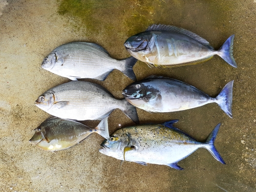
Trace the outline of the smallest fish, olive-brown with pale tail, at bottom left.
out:
[[[81,142],[92,133],[98,133],[105,139],[109,138],[108,117],[104,118],[94,128],[70,119],[61,119],[51,116],[42,122],[30,143],[46,151],[60,151]]]

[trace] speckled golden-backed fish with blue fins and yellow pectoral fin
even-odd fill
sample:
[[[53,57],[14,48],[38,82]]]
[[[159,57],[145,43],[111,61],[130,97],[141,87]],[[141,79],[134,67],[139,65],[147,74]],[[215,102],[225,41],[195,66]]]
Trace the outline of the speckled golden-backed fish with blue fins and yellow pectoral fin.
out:
[[[217,161],[226,164],[214,145],[221,123],[217,124],[205,142],[198,142],[174,127],[176,122],[178,120],[124,127],[105,139],[99,152],[121,161],[167,165],[182,170],[178,162],[203,147]]]

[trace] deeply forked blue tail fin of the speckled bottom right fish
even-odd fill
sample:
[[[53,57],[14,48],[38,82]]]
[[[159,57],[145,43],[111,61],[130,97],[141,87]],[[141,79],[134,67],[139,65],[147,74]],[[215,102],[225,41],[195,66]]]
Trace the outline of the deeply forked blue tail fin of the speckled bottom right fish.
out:
[[[222,159],[221,155],[219,154],[219,152],[217,151],[216,147],[214,146],[214,141],[217,137],[220,126],[221,126],[221,123],[217,124],[215,129],[212,130],[207,140],[205,141],[206,143],[205,148],[207,148],[207,150],[211,153],[212,156],[214,156],[214,158],[217,161],[220,161],[222,164],[226,164],[225,161]]]

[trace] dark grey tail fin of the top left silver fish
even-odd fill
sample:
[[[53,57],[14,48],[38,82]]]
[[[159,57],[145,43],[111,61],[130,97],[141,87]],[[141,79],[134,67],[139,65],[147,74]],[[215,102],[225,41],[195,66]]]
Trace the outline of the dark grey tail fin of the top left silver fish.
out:
[[[120,69],[120,71],[123,72],[123,74],[125,76],[129,77],[130,79],[132,79],[134,81],[136,81],[136,76],[133,71],[133,66],[135,65],[137,60],[138,59],[136,59],[134,57],[128,57],[126,59],[121,60],[121,61],[123,61],[123,66],[122,66],[122,69]]]

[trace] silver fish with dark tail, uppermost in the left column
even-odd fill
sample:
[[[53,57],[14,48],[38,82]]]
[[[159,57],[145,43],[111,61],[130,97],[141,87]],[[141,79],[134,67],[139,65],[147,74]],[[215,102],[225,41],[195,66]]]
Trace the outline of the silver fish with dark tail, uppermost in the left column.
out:
[[[71,80],[93,78],[105,80],[114,69],[136,81],[134,57],[116,60],[101,46],[92,42],[69,42],[55,48],[41,63],[41,67]]]

